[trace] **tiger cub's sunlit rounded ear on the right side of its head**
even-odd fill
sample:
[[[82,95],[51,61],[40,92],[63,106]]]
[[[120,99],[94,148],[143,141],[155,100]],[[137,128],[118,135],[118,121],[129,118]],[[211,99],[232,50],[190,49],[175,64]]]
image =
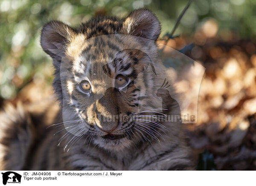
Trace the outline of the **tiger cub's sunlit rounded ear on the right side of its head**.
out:
[[[156,41],[160,35],[160,22],[148,9],[137,9],[131,12],[123,23],[125,34],[143,37]]]

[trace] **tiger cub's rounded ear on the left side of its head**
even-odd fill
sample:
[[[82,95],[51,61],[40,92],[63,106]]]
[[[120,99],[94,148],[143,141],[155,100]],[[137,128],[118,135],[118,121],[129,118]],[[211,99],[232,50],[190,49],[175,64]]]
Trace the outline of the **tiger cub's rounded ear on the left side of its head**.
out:
[[[50,21],[41,32],[41,46],[52,58],[64,56],[67,44],[76,35],[76,31],[61,21]]]

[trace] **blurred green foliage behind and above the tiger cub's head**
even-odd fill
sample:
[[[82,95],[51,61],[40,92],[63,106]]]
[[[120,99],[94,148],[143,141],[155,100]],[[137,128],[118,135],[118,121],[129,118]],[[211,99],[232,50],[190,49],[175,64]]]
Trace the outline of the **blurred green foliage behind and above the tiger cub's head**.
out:
[[[134,9],[147,7],[159,18],[163,37],[171,32],[187,2],[0,0],[0,97],[14,98],[31,81],[50,84],[51,60],[39,44],[41,28],[48,20],[62,20],[76,26],[95,15],[122,17]],[[256,33],[255,12],[255,0],[194,0],[175,33],[194,37],[198,29],[203,28],[209,37],[219,35],[223,40],[230,39],[230,32],[240,38],[253,38]],[[201,40],[201,35],[198,39]]]

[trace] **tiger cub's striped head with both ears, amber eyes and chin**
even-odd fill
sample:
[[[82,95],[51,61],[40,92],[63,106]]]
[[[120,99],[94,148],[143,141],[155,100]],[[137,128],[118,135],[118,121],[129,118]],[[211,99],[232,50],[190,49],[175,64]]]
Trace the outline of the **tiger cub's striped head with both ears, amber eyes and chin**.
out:
[[[126,116],[160,108],[153,93],[159,34],[160,23],[147,9],[120,20],[96,17],[76,29],[59,21],[44,26],[41,46],[53,58],[64,122],[77,121],[69,132],[106,150],[152,137],[157,126],[139,128]]]

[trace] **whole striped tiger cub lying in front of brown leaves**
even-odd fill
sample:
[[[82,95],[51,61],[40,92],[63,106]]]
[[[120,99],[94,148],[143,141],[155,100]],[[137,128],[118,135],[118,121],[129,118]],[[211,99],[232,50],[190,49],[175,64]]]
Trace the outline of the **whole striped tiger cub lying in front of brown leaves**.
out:
[[[159,35],[147,9],[77,28],[47,23],[41,46],[53,59],[58,101],[6,107],[0,169],[194,169],[180,117],[166,120],[180,108],[157,54]]]

